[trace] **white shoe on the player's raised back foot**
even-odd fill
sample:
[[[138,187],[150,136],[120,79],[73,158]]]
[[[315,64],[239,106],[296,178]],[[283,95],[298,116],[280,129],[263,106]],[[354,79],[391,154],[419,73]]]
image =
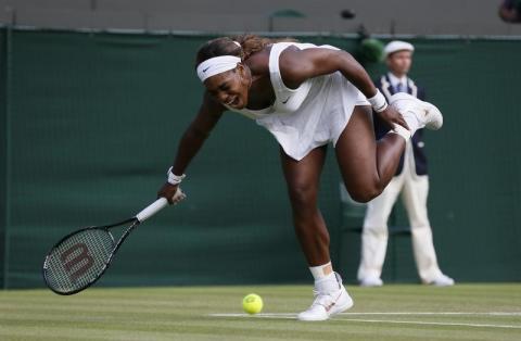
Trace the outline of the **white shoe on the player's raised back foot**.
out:
[[[425,127],[430,130],[437,130],[443,126],[443,115],[435,105],[420,101],[409,93],[395,93],[391,97],[390,103],[404,117],[409,113],[414,114],[418,119],[418,129]]]

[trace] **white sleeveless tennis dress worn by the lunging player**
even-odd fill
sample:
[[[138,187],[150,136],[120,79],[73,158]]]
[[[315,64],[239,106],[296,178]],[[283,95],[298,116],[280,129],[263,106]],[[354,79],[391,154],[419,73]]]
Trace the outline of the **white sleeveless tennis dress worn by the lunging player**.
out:
[[[276,100],[263,110],[229,110],[241,113],[266,129],[284,152],[296,161],[313,149],[336,141],[344,130],[355,105],[370,105],[366,97],[340,72],[303,83],[297,89],[288,88],[280,75],[279,56],[290,47],[313,49],[313,43],[278,42],[269,53],[269,73]],[[332,46],[318,48],[339,50]]]

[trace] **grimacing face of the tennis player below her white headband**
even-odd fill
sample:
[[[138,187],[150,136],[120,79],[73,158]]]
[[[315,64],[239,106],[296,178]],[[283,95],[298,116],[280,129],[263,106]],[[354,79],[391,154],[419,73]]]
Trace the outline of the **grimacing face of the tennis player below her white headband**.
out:
[[[247,104],[247,79],[244,66],[217,74],[204,81],[206,89],[219,103],[233,109],[243,109]]]

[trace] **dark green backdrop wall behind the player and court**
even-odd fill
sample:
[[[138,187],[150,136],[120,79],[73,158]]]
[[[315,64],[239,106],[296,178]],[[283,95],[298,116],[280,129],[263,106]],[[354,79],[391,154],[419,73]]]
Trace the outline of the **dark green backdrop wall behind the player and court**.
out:
[[[0,35],[1,281],[42,286],[48,249],[155,199],[202,96],[193,71],[211,37],[7,30]],[[300,37],[353,51],[354,39]],[[521,280],[521,42],[412,39],[411,76],[445,114],[428,135],[430,216],[442,269],[458,281]],[[376,76],[382,65],[368,65]],[[334,153],[320,206],[335,267],[355,279],[360,210],[340,200]],[[278,146],[227,113],[183,182],[188,200],[123,245],[100,285],[308,282]],[[394,225],[406,226],[403,209]],[[407,235],[386,281],[418,281]]]

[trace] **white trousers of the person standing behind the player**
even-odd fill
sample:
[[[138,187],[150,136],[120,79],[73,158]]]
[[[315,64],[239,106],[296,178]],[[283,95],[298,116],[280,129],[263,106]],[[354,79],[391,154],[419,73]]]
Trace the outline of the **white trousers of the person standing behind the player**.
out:
[[[442,275],[427,213],[429,176],[416,175],[414,166],[412,169],[407,167],[406,162],[402,174],[394,177],[385,190],[368,203],[361,233],[358,280],[380,278],[382,274],[389,239],[387,219],[399,193],[409,218],[412,250],[421,280],[429,283]]]

